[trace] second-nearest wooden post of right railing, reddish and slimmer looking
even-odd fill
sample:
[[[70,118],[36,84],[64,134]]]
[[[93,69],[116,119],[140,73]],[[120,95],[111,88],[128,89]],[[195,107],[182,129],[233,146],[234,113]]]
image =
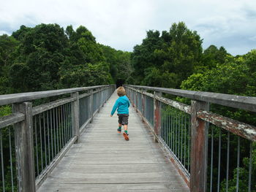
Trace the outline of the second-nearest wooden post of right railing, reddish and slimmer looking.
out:
[[[154,91],[154,132],[159,135],[161,128],[161,103],[157,101],[156,96],[162,96],[162,93]]]

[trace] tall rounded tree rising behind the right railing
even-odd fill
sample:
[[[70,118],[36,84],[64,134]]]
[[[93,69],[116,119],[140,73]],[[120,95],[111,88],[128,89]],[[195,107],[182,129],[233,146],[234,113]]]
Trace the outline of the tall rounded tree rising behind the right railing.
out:
[[[173,23],[170,31],[162,31],[162,36],[159,31],[148,31],[132,54],[136,83],[153,85],[151,77],[157,75],[154,85],[178,88],[200,64],[201,44],[197,32],[190,31],[183,22]]]

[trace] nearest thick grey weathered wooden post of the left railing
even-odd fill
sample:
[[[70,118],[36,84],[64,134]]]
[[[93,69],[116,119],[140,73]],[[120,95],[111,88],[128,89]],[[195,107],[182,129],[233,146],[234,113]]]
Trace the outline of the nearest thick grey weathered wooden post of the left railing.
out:
[[[12,111],[22,112],[25,115],[25,120],[14,125],[18,191],[35,192],[32,104],[30,102],[13,104]]]

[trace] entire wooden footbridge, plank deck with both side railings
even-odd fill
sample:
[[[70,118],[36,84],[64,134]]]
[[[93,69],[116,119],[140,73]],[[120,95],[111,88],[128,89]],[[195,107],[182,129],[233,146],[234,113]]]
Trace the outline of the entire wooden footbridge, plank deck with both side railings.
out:
[[[125,88],[128,142],[110,118],[114,85],[0,96],[0,105],[12,104],[0,118],[0,191],[228,191],[233,179],[239,191],[240,167],[255,190],[255,126],[209,110],[211,103],[256,112],[255,97]]]

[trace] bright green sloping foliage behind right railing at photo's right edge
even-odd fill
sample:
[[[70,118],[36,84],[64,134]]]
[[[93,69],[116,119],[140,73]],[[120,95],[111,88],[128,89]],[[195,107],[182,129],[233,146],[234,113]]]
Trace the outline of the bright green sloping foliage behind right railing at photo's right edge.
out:
[[[256,58],[255,50],[238,58],[230,58],[224,64],[217,64],[211,70],[200,74],[192,74],[181,83],[181,88],[256,96],[254,58]]]

